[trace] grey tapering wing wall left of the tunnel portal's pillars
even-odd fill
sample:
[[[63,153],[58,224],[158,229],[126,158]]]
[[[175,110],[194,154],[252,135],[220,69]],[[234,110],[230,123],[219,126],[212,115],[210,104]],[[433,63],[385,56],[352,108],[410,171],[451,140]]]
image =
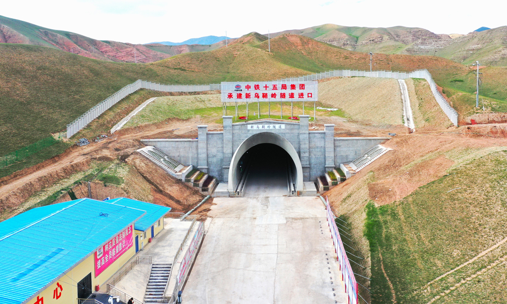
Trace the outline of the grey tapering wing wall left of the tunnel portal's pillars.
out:
[[[142,139],[184,165],[197,167],[197,139]]]

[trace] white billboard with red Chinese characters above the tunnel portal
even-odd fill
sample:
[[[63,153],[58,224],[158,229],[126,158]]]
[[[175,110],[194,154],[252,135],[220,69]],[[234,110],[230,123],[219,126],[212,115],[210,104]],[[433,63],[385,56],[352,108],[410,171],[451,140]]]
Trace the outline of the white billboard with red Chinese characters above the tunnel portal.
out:
[[[317,82],[223,82],[222,102],[317,101]]]

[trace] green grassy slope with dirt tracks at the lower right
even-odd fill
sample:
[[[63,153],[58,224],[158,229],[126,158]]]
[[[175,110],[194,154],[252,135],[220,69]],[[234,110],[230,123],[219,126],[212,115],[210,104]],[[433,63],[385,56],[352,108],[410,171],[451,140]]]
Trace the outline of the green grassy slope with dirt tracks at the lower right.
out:
[[[372,303],[507,301],[506,156],[483,156],[400,202],[367,206]]]

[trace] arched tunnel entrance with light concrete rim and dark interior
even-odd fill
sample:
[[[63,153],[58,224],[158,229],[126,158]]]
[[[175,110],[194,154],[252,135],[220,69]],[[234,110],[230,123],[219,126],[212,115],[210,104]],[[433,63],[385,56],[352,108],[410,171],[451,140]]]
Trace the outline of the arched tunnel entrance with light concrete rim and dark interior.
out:
[[[303,189],[297,151],[275,133],[258,133],[243,141],[229,168],[229,192],[237,196],[297,195]]]

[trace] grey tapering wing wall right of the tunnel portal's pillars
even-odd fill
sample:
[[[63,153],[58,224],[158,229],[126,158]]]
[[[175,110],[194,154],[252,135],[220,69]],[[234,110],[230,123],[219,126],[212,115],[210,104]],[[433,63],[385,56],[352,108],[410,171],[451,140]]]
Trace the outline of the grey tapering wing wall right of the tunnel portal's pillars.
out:
[[[335,166],[352,162],[388,139],[387,137],[335,137]]]

